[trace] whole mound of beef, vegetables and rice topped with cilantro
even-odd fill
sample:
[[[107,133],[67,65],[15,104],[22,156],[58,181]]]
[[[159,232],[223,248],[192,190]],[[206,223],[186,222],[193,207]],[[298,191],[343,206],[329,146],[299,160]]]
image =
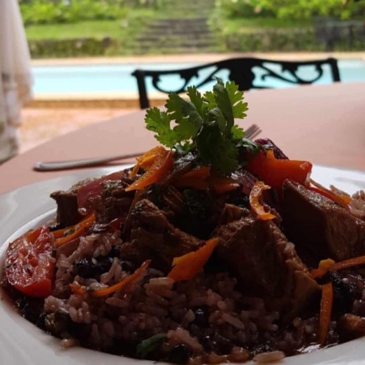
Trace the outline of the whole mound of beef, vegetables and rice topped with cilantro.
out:
[[[57,220],[9,245],[3,287],[22,316],[65,347],[176,364],[364,335],[364,192],[326,189],[310,162],[245,138],[234,82],[188,96],[146,113],[167,149],[52,193]]]

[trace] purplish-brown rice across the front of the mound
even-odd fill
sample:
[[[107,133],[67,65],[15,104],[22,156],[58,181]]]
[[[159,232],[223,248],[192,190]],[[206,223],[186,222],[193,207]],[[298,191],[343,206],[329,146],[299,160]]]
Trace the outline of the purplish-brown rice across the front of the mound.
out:
[[[237,280],[226,272],[206,274],[201,270],[192,280],[174,283],[161,271],[149,268],[128,292],[116,291],[99,298],[88,293],[85,296],[72,294],[71,283],[100,289],[130,275],[119,258],[113,258],[106,272],[93,277],[84,278],[76,272],[79,260],[88,258],[96,264],[120,242],[119,235],[81,237],[72,253],[59,254],[56,285],[52,295],[46,298],[44,309],[48,314],[62,311],[62,315],[68,315],[79,326],[75,327],[79,328],[78,333],[69,333],[66,328],[58,334],[63,338],[63,347],[79,343],[110,351],[119,343],[139,343],[164,333],[162,358],[164,354],[168,357],[174,346],[184,344],[192,351],[190,363],[200,365],[247,361],[252,358],[247,348],[255,348],[263,342],[276,344],[273,350],[278,351],[256,355],[255,361],[276,361],[285,351],[292,352],[315,341],[318,319],[295,318],[292,330],[280,330],[279,313],[268,311],[261,298],[237,291]],[[212,339],[209,348],[205,347],[204,338]],[[230,346],[224,345],[226,342]],[[260,350],[255,354],[258,352],[268,351]]]

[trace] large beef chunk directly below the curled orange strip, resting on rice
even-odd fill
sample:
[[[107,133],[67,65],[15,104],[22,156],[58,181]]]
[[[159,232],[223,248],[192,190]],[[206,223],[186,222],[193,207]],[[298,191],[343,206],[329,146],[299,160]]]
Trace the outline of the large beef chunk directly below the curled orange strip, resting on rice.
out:
[[[297,256],[294,245],[272,221],[249,215],[218,228],[218,257],[253,294],[271,308],[295,315],[319,289]]]

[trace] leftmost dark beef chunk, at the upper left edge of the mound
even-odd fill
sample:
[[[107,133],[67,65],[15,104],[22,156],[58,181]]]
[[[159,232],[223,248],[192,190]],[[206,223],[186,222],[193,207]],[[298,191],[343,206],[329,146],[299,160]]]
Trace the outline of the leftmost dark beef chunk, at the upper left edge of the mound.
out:
[[[72,226],[84,218],[77,210],[77,191],[90,181],[92,180],[82,180],[67,191],[61,190],[51,193],[51,198],[57,203],[57,222],[60,227]]]

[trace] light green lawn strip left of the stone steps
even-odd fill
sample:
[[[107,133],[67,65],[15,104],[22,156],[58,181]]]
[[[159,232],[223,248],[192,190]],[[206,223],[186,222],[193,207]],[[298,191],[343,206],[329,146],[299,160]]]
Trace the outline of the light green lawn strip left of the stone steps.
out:
[[[157,12],[137,9],[127,19],[88,20],[72,24],[37,24],[25,28],[28,39],[105,38],[125,39],[145,29],[148,20],[157,17]]]

